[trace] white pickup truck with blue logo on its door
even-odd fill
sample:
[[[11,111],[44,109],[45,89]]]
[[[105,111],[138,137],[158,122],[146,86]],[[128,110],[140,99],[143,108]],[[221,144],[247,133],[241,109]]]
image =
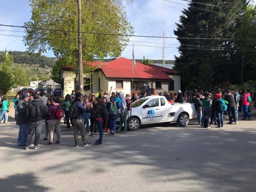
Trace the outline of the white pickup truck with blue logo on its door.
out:
[[[193,103],[168,103],[164,96],[148,96],[132,103],[127,128],[136,131],[140,125],[173,121],[186,126],[196,116]]]

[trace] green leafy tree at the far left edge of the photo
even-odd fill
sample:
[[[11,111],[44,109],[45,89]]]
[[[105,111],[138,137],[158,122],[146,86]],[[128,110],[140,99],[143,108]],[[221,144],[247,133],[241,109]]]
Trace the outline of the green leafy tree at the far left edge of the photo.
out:
[[[6,94],[14,87],[14,75],[12,71],[13,57],[5,50],[0,62],[0,92]]]

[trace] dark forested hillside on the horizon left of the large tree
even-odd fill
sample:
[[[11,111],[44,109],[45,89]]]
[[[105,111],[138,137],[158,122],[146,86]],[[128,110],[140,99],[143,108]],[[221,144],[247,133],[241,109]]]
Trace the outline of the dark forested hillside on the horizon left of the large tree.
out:
[[[53,67],[56,62],[56,58],[29,54],[25,51],[8,51],[8,53],[13,56],[14,63],[18,64],[39,65],[44,68],[46,66]],[[3,51],[0,52],[0,58],[2,54]]]

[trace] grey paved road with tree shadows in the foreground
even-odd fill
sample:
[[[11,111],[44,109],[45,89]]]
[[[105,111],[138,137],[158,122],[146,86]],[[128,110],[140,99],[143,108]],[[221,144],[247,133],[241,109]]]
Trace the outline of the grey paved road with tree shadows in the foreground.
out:
[[[62,132],[61,145],[25,151],[9,122],[0,125],[0,191],[255,192],[255,123],[152,125],[77,148],[73,132]]]

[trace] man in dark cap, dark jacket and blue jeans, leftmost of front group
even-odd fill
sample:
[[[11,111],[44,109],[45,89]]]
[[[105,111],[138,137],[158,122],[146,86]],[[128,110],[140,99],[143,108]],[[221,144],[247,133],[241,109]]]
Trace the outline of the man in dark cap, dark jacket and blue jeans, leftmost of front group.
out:
[[[28,136],[28,117],[26,116],[27,106],[28,106],[28,94],[21,94],[21,99],[17,102],[17,118],[16,125],[19,125],[19,135],[18,135],[18,146],[24,146],[27,142]]]

